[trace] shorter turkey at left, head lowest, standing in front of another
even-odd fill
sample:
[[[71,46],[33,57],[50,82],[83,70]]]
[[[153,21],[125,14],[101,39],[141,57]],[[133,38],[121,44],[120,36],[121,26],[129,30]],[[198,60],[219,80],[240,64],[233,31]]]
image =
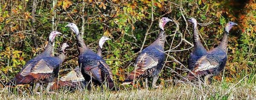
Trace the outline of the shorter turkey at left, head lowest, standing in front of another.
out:
[[[17,86],[34,83],[39,84],[39,82],[42,81],[43,83],[48,83],[46,92],[49,93],[54,79],[58,76],[59,67],[64,61],[66,47],[68,47],[67,43],[63,43],[59,56],[45,57],[41,58],[39,61],[34,61],[34,64],[31,64],[31,67],[29,67],[31,71],[23,76],[24,78],[17,83]],[[38,90],[37,86],[39,85],[36,85],[35,90]],[[37,92],[35,90],[34,92]]]

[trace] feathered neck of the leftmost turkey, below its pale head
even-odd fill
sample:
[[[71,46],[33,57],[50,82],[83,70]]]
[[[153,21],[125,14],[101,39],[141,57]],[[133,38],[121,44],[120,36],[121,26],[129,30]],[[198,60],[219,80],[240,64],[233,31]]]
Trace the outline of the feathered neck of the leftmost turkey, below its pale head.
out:
[[[35,58],[50,57],[52,54],[52,42],[49,41],[44,51]]]

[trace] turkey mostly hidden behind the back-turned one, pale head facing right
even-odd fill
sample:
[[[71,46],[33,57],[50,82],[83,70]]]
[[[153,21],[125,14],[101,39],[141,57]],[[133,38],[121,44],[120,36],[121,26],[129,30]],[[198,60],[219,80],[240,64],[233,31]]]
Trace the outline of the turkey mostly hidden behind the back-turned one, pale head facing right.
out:
[[[111,40],[106,36],[102,36],[99,39],[99,47],[97,48],[97,55],[102,56],[102,46],[107,41]],[[55,82],[51,89],[58,89],[61,87],[65,87],[66,89],[74,90],[74,89],[85,89],[86,82],[84,81],[84,77],[80,71],[80,67],[76,67],[74,70],[70,71],[67,75],[61,77],[60,81]]]

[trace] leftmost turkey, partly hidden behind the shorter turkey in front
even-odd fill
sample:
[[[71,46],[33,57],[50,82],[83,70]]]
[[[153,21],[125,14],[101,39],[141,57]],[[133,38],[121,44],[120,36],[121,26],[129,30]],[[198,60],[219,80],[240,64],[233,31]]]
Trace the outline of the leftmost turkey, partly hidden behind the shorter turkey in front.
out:
[[[61,34],[58,31],[52,31],[49,35],[49,41],[47,44],[47,47],[44,49],[44,51],[39,54],[38,56],[36,56],[35,58],[32,58],[31,60],[29,60],[28,62],[26,62],[26,64],[24,65],[24,67],[20,70],[20,72],[15,76],[15,78],[13,78],[11,81],[9,81],[8,83],[6,83],[6,86],[10,86],[10,87],[15,87],[16,83],[19,83],[20,80],[22,80],[24,78],[24,76],[28,75],[29,73],[31,73],[31,69],[32,67],[35,66],[35,63],[37,61],[40,61],[42,58],[45,57],[50,57],[51,53],[52,53],[52,43],[55,39],[55,36],[57,36],[58,34]],[[33,86],[34,84],[31,84],[31,86]],[[39,85],[39,84],[38,84]],[[37,91],[37,90],[36,90]]]

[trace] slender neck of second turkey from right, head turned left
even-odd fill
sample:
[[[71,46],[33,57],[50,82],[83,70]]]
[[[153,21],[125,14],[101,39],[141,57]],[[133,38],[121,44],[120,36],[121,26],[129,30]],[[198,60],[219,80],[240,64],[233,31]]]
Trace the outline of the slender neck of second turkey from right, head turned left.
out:
[[[195,48],[198,48],[198,47],[200,47],[200,46],[203,47],[203,45],[202,45],[201,42],[200,42],[199,35],[198,35],[198,28],[197,28],[197,25],[194,25],[193,38],[194,38],[194,46],[195,46]]]

